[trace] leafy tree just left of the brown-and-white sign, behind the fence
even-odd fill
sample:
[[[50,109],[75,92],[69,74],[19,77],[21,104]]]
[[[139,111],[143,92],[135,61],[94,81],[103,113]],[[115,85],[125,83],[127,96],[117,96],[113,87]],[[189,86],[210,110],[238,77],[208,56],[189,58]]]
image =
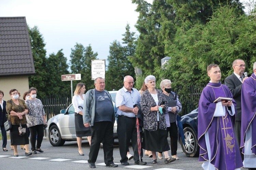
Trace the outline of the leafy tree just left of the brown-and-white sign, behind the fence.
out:
[[[61,81],[61,75],[69,74],[67,58],[62,50],[59,50],[57,54],[50,54],[47,58],[47,72],[50,73],[45,87],[47,95],[70,91],[70,81]]]

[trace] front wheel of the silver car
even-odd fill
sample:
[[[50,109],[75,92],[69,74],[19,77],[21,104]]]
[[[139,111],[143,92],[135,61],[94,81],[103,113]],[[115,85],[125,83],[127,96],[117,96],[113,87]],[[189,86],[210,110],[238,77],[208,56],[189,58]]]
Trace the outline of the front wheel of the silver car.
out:
[[[61,139],[58,126],[52,125],[49,129],[49,141],[54,147],[60,147],[64,145],[65,140]]]

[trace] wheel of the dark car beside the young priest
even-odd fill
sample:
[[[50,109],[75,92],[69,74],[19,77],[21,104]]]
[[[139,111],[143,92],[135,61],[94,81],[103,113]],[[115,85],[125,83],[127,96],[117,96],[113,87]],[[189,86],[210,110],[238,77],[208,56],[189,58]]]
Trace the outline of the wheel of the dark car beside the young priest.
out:
[[[192,128],[184,128],[185,146],[181,145],[183,152],[188,157],[199,156],[199,146],[197,144],[197,135]],[[181,140],[182,141],[182,140]]]

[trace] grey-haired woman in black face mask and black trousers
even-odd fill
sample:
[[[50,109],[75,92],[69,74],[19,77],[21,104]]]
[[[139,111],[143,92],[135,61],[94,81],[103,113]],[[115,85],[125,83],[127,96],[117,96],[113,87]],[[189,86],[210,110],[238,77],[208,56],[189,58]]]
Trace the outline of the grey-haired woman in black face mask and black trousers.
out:
[[[167,105],[168,107],[167,112],[165,114],[165,118],[166,118],[166,125],[167,125],[167,134],[169,131],[170,138],[171,138],[171,154],[173,158],[176,158],[178,160],[179,159],[179,157],[177,157],[178,128],[177,128],[177,122],[176,122],[176,115],[181,111],[182,106],[181,106],[179,97],[171,89],[170,80],[165,79],[161,81],[160,87],[162,89],[163,96],[165,97],[165,100],[166,100],[165,105]]]

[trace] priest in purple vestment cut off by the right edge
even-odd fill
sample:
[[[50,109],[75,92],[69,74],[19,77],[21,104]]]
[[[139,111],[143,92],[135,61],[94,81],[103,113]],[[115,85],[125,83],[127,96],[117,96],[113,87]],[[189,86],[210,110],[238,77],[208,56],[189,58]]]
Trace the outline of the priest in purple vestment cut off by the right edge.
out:
[[[245,168],[256,168],[256,62],[253,74],[244,80],[241,92],[241,145]],[[253,130],[253,131],[252,131]]]

